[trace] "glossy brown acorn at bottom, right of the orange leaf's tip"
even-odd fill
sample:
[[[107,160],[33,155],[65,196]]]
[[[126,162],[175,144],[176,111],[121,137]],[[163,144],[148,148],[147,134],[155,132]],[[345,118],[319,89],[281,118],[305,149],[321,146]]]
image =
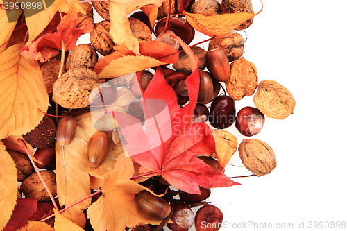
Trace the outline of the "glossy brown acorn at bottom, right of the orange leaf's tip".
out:
[[[148,191],[141,191],[135,198],[139,207],[158,219],[167,218],[171,212],[171,206],[164,198],[154,196]]]

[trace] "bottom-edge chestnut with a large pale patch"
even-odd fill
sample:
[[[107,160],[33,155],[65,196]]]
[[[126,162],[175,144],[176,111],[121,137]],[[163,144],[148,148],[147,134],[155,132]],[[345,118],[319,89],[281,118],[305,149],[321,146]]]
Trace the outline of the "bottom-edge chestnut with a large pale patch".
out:
[[[189,205],[178,201],[175,203],[171,221],[174,223],[167,223],[167,228],[170,230],[187,231],[194,224],[194,213]]]

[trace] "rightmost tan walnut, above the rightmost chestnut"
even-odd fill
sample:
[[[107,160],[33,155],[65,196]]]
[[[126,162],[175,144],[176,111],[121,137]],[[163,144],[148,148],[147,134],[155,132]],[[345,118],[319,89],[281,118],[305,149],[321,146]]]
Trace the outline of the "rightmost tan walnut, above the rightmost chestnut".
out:
[[[274,80],[260,82],[253,101],[260,112],[273,119],[285,119],[295,108],[293,95]]]

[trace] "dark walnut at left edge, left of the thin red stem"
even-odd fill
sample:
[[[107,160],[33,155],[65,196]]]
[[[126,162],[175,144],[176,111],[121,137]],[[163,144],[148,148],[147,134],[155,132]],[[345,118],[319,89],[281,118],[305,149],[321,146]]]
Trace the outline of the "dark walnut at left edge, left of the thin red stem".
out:
[[[8,150],[7,152],[8,154],[10,154],[16,164],[17,180],[19,182],[22,182],[27,176],[34,173],[35,169],[33,167],[33,164],[31,164],[28,155],[11,150]]]

